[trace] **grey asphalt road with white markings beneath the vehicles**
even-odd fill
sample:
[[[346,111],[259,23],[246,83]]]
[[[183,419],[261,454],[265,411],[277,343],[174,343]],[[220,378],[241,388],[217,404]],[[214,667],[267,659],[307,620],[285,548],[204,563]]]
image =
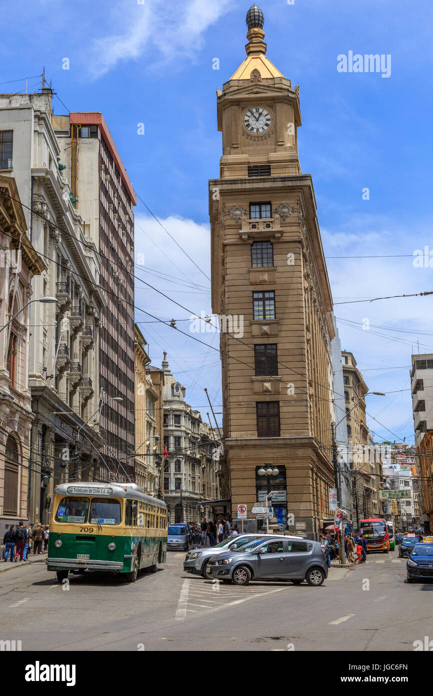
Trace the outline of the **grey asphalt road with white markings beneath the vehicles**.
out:
[[[187,576],[183,557],[168,552],[134,584],[70,575],[64,589],[43,563],[1,573],[0,640],[23,651],[413,651],[433,637],[433,583],[407,585],[396,553],[331,569],[321,587],[215,587]]]

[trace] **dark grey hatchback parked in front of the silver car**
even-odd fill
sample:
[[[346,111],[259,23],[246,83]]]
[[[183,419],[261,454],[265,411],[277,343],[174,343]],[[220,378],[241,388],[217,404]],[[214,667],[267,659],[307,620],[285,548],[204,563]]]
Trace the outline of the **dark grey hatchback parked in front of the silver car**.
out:
[[[252,541],[237,553],[228,551],[209,560],[212,578],[234,585],[248,585],[250,580],[291,580],[300,585],[307,580],[318,587],[328,576],[325,554],[318,541],[284,537],[272,541]]]

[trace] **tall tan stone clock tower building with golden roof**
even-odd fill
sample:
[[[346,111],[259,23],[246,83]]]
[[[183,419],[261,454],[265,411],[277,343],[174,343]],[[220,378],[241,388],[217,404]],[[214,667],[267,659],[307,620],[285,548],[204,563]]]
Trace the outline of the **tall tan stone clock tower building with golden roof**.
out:
[[[209,212],[221,473],[234,519],[240,503],[255,518],[253,504],[272,490],[280,527],[318,538],[334,487],[332,296],[311,175],[300,171],[299,90],[266,56],[263,24],[253,5],[247,57],[217,92],[222,157]]]

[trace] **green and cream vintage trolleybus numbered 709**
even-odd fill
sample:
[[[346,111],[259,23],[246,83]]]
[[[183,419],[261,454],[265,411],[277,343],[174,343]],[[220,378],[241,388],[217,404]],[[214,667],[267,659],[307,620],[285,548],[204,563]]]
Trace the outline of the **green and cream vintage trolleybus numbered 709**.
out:
[[[54,489],[47,570],[156,573],[167,558],[167,505],[133,483],[65,483]]]

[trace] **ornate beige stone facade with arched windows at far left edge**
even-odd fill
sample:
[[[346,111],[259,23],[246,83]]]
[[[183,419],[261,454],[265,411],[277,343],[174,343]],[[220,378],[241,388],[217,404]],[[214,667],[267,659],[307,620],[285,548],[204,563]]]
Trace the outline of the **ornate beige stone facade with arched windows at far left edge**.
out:
[[[15,199],[15,200],[14,200]],[[44,269],[26,236],[15,179],[0,175],[0,537],[28,521],[28,465],[33,421],[28,388],[31,279]],[[35,299],[35,298],[33,298]]]

